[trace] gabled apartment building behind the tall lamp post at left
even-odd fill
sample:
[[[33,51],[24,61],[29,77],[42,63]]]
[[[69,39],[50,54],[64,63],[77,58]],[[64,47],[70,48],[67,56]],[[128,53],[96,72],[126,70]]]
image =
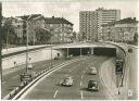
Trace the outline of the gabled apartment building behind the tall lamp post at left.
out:
[[[45,28],[45,17],[41,14],[31,14],[18,16],[23,20],[23,43],[26,43],[28,34],[28,43],[37,43],[36,29]]]

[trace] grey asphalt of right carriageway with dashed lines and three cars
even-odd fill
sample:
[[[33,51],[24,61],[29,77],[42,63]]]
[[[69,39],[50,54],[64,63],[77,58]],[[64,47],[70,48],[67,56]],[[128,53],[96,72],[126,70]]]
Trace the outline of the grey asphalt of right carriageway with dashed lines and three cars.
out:
[[[89,67],[99,68],[101,64],[106,61],[108,56],[87,56],[66,65],[54,73],[47,76],[39,84],[31,87],[27,92],[25,92],[21,99],[26,100],[43,100],[43,99],[59,99],[59,100],[104,100],[109,99],[106,88],[101,84],[99,73],[97,75],[89,75]],[[74,85],[72,87],[60,86],[60,81],[65,78],[65,76],[72,76],[74,79]],[[99,84],[99,91],[87,91],[88,81],[94,79]]]

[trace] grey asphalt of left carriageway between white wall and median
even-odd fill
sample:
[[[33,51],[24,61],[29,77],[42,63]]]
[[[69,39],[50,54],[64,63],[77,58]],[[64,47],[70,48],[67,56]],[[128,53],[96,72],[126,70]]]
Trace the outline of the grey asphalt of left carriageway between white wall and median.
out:
[[[65,60],[53,60],[52,65],[54,66],[56,64],[61,64]],[[33,64],[34,67],[33,70],[37,74],[42,70],[50,67],[50,65],[51,65],[50,61],[36,62]],[[14,68],[8,68],[3,71],[2,89],[1,89],[2,98],[22,84],[20,76],[24,72],[25,72],[25,65],[16,66]]]

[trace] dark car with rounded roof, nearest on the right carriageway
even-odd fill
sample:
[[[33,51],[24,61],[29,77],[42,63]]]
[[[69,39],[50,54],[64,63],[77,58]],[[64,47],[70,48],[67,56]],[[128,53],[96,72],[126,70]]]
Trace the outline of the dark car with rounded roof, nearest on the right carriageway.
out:
[[[96,80],[89,80],[88,90],[89,91],[99,91],[98,83]]]

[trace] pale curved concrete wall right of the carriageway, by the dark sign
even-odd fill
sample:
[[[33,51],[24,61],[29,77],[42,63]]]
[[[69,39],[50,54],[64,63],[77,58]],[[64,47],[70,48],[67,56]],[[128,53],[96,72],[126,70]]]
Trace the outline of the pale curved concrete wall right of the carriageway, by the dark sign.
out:
[[[115,74],[114,61],[114,59],[110,59],[102,64],[100,68],[100,78],[111,100],[126,100],[127,85],[125,86],[126,83],[124,83],[124,87],[117,87],[117,77],[119,77],[119,75],[117,76]]]

